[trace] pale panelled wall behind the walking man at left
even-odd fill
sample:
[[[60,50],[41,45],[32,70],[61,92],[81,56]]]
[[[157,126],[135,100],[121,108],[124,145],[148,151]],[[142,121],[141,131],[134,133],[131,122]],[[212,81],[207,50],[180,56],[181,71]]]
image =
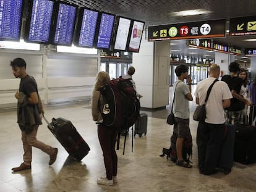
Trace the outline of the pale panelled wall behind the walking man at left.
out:
[[[41,46],[41,48],[43,48]],[[27,73],[35,77],[44,104],[89,100],[100,66],[100,55],[58,53],[52,49],[15,51],[0,49],[0,109],[15,107],[20,78],[12,74],[10,61],[22,57]]]

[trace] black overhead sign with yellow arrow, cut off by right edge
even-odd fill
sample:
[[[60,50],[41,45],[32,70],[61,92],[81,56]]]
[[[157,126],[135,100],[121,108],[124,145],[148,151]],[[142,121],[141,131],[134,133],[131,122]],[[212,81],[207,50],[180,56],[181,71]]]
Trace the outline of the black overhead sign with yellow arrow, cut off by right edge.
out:
[[[238,35],[256,35],[256,15],[230,19],[229,36]]]

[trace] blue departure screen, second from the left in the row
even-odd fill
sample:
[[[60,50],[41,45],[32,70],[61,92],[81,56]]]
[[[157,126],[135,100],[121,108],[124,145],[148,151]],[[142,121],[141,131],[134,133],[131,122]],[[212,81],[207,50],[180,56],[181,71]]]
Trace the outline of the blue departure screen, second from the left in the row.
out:
[[[53,15],[53,1],[34,0],[29,27],[29,41],[48,43]]]

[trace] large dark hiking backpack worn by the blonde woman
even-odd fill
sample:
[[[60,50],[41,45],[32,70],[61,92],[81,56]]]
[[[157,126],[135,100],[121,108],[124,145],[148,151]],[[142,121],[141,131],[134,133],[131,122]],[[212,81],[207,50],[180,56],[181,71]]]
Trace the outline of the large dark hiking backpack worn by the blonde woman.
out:
[[[118,131],[117,149],[121,133],[126,133],[140,117],[140,101],[130,79],[116,78],[99,89],[105,100],[103,109],[99,109],[106,127]],[[100,100],[98,106],[101,106]],[[125,147],[125,146],[124,146]]]

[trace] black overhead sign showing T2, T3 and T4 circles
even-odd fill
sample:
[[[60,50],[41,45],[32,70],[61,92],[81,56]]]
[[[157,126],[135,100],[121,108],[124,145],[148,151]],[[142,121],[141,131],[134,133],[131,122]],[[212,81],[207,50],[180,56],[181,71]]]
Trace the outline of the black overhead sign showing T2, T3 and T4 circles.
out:
[[[226,20],[148,27],[148,41],[216,38],[225,36]]]

